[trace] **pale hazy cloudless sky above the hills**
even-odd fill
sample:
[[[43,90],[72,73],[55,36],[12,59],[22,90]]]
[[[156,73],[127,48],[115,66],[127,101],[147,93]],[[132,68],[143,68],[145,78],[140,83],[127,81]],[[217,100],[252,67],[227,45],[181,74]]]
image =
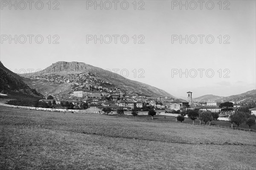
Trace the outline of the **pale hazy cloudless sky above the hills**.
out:
[[[202,4],[183,0],[187,9],[180,6],[180,0],[136,1],[136,6],[134,0],[97,0],[102,10],[100,6],[95,9],[95,1],[86,0],[51,1],[51,6],[48,0],[41,1],[43,7],[34,1],[31,10],[30,4],[24,6],[23,2],[16,1],[15,9],[9,1],[1,1],[0,60],[12,71],[77,61],[119,69],[118,74],[123,70],[124,77],[128,71],[128,79],[177,97],[186,96],[187,91],[192,91],[193,97],[230,96],[256,88],[255,0]],[[102,35],[102,44],[89,40],[94,35],[99,39]],[[9,42],[9,38],[13,40]]]

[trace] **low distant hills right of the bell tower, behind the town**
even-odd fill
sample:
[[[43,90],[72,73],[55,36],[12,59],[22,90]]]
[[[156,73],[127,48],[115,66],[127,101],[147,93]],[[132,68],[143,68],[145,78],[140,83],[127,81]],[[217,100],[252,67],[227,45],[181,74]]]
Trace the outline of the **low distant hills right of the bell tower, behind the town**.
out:
[[[204,96],[197,97],[193,99],[194,102],[207,102],[207,101],[215,101],[215,102],[236,102],[246,103],[246,102],[256,102],[256,90],[247,91],[242,94],[232,95],[232,96],[215,96],[212,94],[207,94]]]

